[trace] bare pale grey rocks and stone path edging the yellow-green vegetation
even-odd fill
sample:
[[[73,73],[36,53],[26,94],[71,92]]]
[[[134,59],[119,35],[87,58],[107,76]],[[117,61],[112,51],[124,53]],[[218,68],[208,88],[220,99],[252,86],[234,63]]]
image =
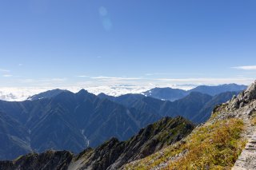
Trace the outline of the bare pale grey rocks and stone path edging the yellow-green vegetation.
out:
[[[252,123],[256,117],[256,81],[244,92],[227,102],[223,117],[239,117],[246,125],[243,136],[248,141],[232,170],[256,169],[256,127]]]

